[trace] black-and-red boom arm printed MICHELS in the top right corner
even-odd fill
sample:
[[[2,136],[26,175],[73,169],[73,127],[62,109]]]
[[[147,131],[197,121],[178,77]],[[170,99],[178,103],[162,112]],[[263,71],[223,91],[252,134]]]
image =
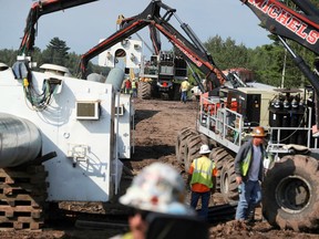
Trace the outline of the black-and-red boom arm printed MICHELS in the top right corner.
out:
[[[294,62],[309,79],[317,94],[319,77],[308,64],[289,46],[290,39],[318,55],[319,53],[319,10],[309,0],[291,0],[301,11],[296,11],[279,0],[240,0],[261,21],[261,25],[277,35],[291,54]]]

